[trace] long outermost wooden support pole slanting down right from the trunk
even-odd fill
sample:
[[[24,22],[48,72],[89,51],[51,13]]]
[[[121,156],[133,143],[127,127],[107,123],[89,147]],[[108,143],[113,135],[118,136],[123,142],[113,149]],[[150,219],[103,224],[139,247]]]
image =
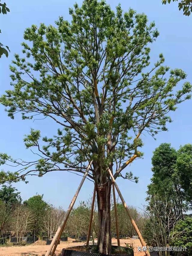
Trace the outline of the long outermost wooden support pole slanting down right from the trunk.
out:
[[[130,220],[131,220],[131,223],[132,223],[132,225],[133,225],[133,227],[134,227],[134,229],[135,229],[135,231],[136,231],[136,233],[137,233],[137,235],[138,235],[138,237],[139,237],[139,239],[140,239],[141,245],[142,245],[142,246],[146,246],[146,243],[145,243],[145,241],[144,241],[144,239],[143,239],[143,237],[142,237],[142,235],[141,235],[141,232],[140,232],[140,230],[138,229],[138,227],[137,227],[137,225],[136,225],[136,223],[135,223],[133,217],[131,216],[131,213],[130,213],[130,211],[129,211],[129,208],[128,208],[127,204],[125,203],[125,200],[124,200],[124,198],[123,198],[123,196],[122,196],[122,194],[121,194],[121,192],[120,192],[120,190],[119,190],[119,187],[118,187],[117,183],[115,182],[115,179],[114,179],[113,174],[112,174],[112,172],[110,171],[110,169],[108,169],[108,172],[109,172],[110,177],[111,177],[111,179],[112,179],[112,181],[113,181],[113,183],[114,183],[114,185],[115,185],[115,187],[116,187],[116,190],[117,190],[117,192],[118,192],[118,194],[119,194],[119,197],[120,197],[121,200],[122,200],[122,203],[123,203],[123,205],[124,205],[124,207],[125,207],[125,210],[126,210],[128,216],[129,216]],[[150,254],[149,254],[148,251],[145,251],[145,254],[146,254],[147,256],[150,256]]]

